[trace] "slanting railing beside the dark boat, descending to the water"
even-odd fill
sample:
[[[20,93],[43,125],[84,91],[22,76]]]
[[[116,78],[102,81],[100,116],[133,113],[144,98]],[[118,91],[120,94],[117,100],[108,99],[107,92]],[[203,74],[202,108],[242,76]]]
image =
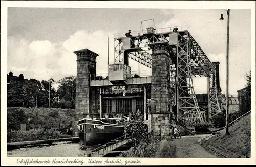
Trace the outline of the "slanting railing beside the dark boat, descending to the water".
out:
[[[99,155],[104,156],[105,154],[108,154],[108,152],[116,149],[117,147],[115,147],[115,145],[117,146],[117,144],[120,144],[120,143],[122,145],[124,142],[125,142],[124,136],[111,140],[110,142],[107,142],[106,144],[101,145],[100,147],[90,151],[88,153],[90,155],[89,157],[93,157],[93,155],[95,154],[97,155],[97,157],[99,157]],[[100,153],[100,150],[102,149],[103,149],[103,152]]]

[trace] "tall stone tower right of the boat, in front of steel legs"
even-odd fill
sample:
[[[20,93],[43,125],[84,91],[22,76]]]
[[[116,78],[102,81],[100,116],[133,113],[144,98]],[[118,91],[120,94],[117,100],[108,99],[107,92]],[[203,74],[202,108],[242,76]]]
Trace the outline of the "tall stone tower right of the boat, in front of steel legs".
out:
[[[151,112],[148,116],[148,128],[155,134],[163,136],[170,132],[169,124],[172,116],[170,114],[172,112],[170,51],[172,49],[167,42],[155,42],[148,46],[152,50]]]

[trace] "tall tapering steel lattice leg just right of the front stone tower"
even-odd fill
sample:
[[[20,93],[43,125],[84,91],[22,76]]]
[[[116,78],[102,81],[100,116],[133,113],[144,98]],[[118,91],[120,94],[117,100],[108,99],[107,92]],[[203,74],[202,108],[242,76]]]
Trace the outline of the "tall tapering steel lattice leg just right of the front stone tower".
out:
[[[178,119],[185,125],[195,125],[203,121],[203,116],[197,103],[191,74],[190,42],[188,32],[177,33],[177,78],[178,78],[178,107],[177,113],[182,112]]]

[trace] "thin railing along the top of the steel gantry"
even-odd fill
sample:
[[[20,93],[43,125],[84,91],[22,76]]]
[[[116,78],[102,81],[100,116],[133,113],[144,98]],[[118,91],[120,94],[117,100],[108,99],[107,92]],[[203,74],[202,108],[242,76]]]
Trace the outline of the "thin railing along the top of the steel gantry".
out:
[[[178,28],[178,31],[184,31],[187,30],[186,26],[174,26],[174,27],[166,27],[166,28],[160,28],[160,29],[156,29],[155,33],[156,34],[161,34],[161,33],[168,33],[168,32],[173,32],[174,28]],[[125,33],[118,33],[118,34],[114,34],[114,38],[122,38],[125,37]],[[132,31],[131,35],[132,36],[138,36],[138,34],[140,33],[140,35],[142,34],[146,34],[147,30],[140,30],[140,31]]]

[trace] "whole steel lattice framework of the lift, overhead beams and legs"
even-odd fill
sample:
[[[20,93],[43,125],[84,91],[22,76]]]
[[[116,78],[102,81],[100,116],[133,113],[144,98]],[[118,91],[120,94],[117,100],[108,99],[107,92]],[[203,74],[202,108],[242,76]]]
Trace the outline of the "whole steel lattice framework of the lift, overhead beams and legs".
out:
[[[177,118],[184,126],[194,126],[198,122],[209,122],[220,112],[216,87],[216,66],[210,62],[196,40],[187,30],[178,31],[177,27],[158,29],[130,36],[116,34],[115,63],[123,63],[128,57],[151,68],[152,51],[148,44],[167,42],[172,47],[170,65],[172,105],[177,108]],[[126,60],[127,61],[127,60]],[[208,77],[208,120],[206,110],[198,106],[193,87],[195,76]]]

